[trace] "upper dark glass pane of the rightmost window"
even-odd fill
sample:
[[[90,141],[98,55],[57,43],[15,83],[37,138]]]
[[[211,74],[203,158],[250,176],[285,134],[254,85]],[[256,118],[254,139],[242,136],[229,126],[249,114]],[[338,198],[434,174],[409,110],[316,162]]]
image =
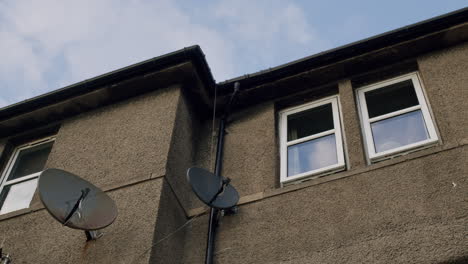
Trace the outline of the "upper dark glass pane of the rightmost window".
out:
[[[413,82],[406,80],[365,93],[369,118],[418,105]]]

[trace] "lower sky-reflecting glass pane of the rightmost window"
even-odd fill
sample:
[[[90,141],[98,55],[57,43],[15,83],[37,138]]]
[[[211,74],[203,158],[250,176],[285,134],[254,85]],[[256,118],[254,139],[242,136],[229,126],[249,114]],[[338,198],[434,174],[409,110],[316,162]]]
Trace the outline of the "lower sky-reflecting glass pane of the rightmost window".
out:
[[[429,137],[421,110],[377,121],[371,128],[377,153]]]

